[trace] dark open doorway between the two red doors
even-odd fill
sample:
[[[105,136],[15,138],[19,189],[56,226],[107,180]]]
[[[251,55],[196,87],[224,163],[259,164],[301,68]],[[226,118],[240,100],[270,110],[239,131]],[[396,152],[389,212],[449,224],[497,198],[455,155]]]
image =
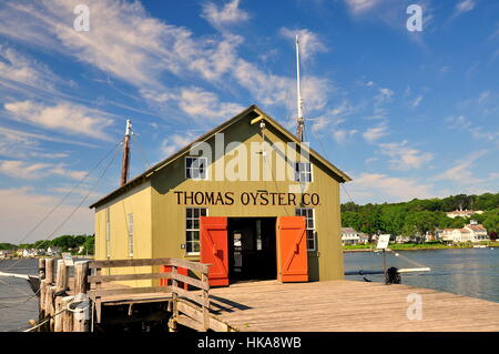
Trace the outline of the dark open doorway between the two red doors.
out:
[[[277,277],[276,218],[228,218],[228,277],[240,281]]]

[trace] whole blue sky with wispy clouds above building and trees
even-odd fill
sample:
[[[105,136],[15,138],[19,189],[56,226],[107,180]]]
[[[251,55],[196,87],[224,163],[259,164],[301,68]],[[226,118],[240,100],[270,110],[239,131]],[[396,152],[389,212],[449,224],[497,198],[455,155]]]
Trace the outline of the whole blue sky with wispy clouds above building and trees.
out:
[[[73,28],[80,3],[88,32]],[[252,103],[294,131],[295,33],[305,140],[353,176],[355,202],[498,191],[497,1],[2,1],[0,239],[19,242],[126,119],[132,176]],[[28,241],[116,188],[120,160]],[[80,208],[55,235],[92,231]]]

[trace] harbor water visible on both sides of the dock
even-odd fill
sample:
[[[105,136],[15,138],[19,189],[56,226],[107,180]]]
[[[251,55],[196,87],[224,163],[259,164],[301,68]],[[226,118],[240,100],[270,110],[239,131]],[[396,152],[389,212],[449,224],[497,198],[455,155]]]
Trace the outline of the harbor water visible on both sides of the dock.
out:
[[[499,249],[497,247],[401,251],[399,253],[431,269],[429,273],[403,274],[403,284],[499,302]],[[345,271],[383,267],[380,253],[345,253],[344,260]],[[387,253],[387,266],[403,269],[415,265]],[[0,260],[0,272],[35,275],[37,267],[35,259]],[[346,279],[364,281],[360,275],[346,276]],[[384,281],[383,275],[367,275],[366,279],[374,282]],[[28,282],[0,277],[0,332],[26,330],[29,327],[29,320],[38,320],[38,297],[33,295]]]

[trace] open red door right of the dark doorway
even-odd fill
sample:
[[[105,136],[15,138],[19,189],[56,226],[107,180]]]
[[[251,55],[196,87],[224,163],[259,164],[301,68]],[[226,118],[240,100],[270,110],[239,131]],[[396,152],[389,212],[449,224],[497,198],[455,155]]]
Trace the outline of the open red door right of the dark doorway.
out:
[[[283,283],[308,282],[308,255],[304,216],[277,218],[277,279]]]

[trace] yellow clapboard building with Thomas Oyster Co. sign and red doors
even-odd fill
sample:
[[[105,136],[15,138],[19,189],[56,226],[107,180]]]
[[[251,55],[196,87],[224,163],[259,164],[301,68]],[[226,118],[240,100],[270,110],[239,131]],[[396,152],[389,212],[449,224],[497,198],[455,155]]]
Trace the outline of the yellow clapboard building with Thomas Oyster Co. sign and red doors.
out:
[[[93,203],[95,259],[201,261],[212,286],[343,279],[348,181],[251,105]]]

